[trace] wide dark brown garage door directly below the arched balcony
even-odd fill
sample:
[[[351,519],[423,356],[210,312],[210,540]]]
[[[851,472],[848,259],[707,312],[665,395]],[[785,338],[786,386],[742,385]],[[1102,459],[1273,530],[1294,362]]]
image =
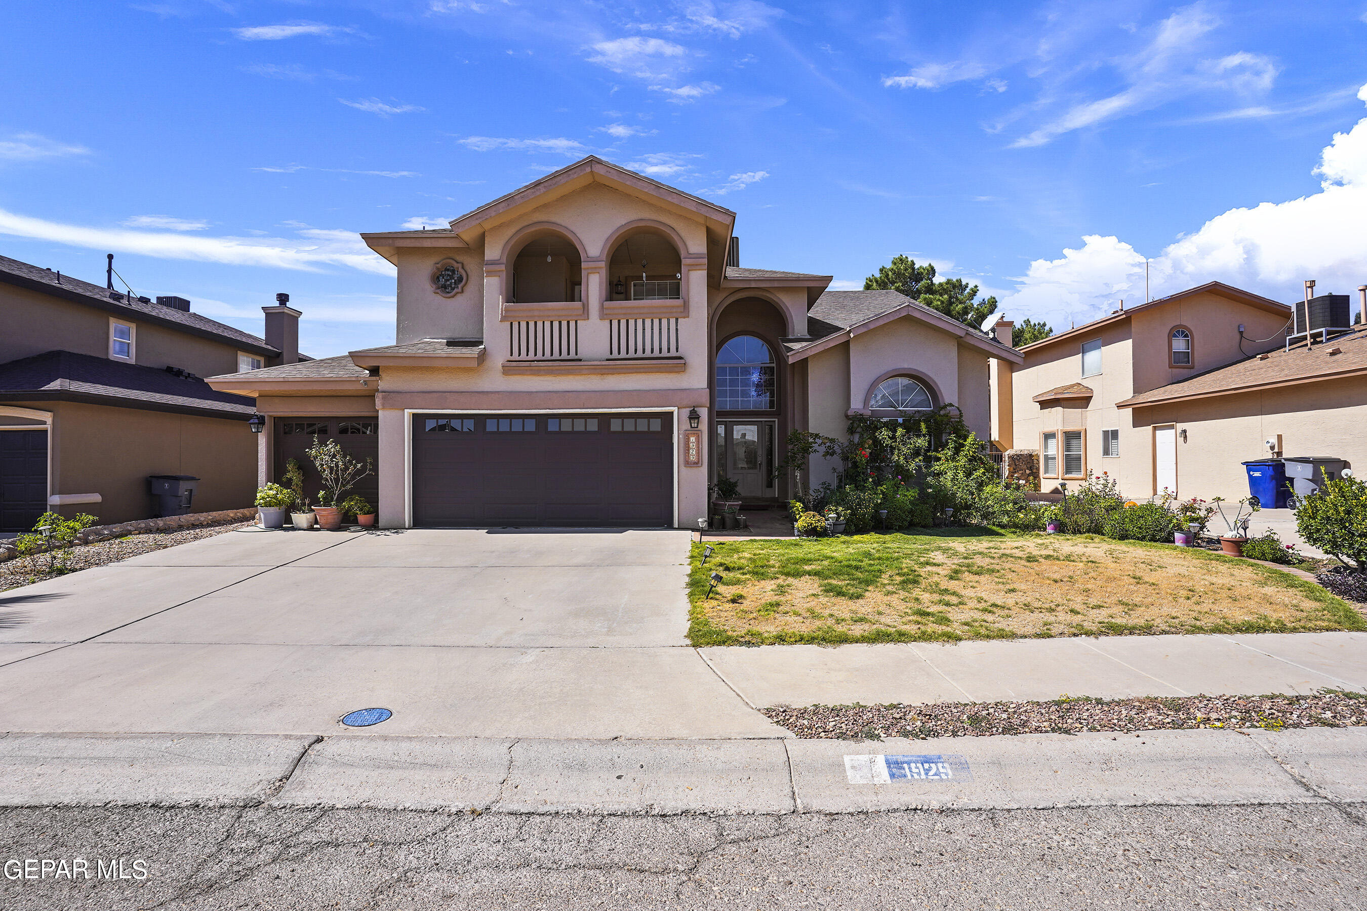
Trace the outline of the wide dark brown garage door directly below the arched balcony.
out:
[[[413,415],[416,526],[659,527],[674,417]]]

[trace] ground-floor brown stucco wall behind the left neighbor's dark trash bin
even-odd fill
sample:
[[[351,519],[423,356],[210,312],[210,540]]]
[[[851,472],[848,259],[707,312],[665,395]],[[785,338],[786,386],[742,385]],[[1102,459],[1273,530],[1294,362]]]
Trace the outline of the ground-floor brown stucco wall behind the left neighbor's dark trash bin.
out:
[[[63,507],[101,523],[152,516],[149,474],[193,474],[193,512],[242,509],[256,494],[257,441],[246,421],[111,408],[75,402],[31,403],[52,411],[51,493],[98,493],[103,503]]]

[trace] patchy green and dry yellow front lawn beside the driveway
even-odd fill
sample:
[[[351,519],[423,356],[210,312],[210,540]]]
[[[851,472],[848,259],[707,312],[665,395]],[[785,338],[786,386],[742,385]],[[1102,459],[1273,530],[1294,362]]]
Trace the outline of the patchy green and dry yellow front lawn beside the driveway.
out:
[[[1367,630],[1314,582],[1096,535],[923,530],[694,544],[694,646]],[[708,574],[722,585],[707,597]]]

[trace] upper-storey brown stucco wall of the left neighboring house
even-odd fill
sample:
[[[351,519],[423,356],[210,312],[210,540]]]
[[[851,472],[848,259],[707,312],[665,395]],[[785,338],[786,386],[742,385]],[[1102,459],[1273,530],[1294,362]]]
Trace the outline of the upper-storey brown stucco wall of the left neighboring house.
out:
[[[109,356],[109,320],[135,328],[134,362],[180,367],[201,377],[236,373],[238,348],[156,325],[137,316],[118,316],[63,298],[0,283],[0,363],[45,351]]]

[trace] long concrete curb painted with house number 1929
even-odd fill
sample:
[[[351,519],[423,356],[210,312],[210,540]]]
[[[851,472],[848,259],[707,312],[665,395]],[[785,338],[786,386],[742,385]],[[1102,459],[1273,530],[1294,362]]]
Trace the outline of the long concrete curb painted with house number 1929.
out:
[[[916,774],[856,784],[846,757]],[[858,766],[860,761],[853,765]],[[867,765],[867,761],[864,761]],[[934,766],[927,766],[934,768]],[[0,736],[0,806],[787,814],[1367,800],[1367,728],[939,740]]]

